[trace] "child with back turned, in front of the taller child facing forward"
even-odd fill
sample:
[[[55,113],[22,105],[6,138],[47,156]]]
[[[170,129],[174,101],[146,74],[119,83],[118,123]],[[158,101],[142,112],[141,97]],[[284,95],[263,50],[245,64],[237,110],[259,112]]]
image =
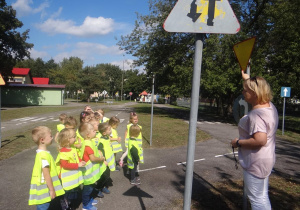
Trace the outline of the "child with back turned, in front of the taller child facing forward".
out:
[[[129,128],[129,140],[128,140],[128,156],[127,166],[130,169],[130,184],[140,185],[141,180],[137,176],[137,168],[139,163],[144,163],[143,148],[137,140],[141,133],[141,128],[136,124]]]

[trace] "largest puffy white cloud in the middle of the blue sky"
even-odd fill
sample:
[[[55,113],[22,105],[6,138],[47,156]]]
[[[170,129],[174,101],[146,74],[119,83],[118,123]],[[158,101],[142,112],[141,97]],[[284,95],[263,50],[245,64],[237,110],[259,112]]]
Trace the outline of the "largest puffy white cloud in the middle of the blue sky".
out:
[[[72,20],[48,19],[37,27],[42,31],[54,34],[70,34],[80,37],[90,37],[96,35],[105,35],[113,31],[114,20],[104,17],[87,16],[82,25],[76,26]]]

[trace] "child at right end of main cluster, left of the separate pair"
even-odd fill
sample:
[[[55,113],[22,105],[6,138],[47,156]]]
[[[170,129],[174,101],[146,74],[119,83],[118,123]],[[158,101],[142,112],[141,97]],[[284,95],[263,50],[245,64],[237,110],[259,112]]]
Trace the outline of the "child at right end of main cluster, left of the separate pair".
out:
[[[115,155],[115,160],[117,160],[117,153],[122,152],[122,145],[121,145],[121,137],[118,135],[117,127],[120,124],[120,119],[113,116],[108,121],[108,124],[111,126],[111,135],[110,135],[110,142],[112,146],[113,153]],[[118,168],[119,162],[116,161],[116,170],[120,170]]]

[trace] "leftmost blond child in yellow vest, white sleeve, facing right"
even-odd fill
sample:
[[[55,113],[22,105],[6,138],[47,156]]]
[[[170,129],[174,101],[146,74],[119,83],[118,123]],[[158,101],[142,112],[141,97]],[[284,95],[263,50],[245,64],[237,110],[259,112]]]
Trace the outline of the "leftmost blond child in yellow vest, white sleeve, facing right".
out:
[[[53,140],[51,130],[45,126],[38,126],[32,130],[32,139],[38,145],[38,149],[31,176],[28,204],[36,205],[37,209],[48,209],[55,197],[65,194],[57,176],[53,157],[47,150]]]

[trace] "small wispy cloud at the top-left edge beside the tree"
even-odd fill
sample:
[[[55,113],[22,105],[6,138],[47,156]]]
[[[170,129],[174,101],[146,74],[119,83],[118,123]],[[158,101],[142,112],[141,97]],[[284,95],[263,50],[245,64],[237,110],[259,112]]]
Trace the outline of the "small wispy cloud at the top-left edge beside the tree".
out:
[[[37,8],[32,8],[30,6],[31,4],[33,4],[32,0],[17,0],[12,4],[12,7],[17,11],[18,17],[36,13],[42,13],[42,15],[44,15],[45,9],[49,7],[49,3],[47,1],[40,4]]]

